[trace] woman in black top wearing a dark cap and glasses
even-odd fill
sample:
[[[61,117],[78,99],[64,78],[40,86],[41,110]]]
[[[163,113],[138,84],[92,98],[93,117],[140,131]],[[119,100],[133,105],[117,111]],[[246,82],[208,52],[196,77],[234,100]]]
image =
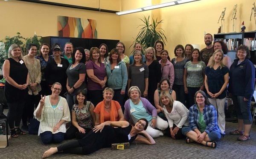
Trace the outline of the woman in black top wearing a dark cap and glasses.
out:
[[[62,86],[67,84],[66,70],[69,62],[65,58],[61,58],[61,47],[58,44],[52,46],[53,58],[48,61],[45,69],[45,78],[47,81],[48,89],[51,90],[52,84],[59,82]],[[65,97],[67,87],[63,87],[60,96]]]

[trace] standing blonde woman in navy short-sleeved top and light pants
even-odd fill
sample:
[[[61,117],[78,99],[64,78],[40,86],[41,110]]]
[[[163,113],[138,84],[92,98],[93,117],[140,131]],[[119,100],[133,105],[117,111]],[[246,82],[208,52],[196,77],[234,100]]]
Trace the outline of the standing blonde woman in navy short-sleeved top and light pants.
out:
[[[209,102],[218,110],[218,126],[221,133],[225,132],[225,101],[227,97],[227,84],[229,69],[223,64],[224,54],[217,49],[212,55],[210,65],[205,69],[205,89]]]

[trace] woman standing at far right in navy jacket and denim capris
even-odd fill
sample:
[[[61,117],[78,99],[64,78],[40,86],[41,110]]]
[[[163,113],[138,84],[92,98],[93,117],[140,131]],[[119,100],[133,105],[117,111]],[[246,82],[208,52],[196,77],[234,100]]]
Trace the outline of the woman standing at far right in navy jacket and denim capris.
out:
[[[249,133],[253,123],[250,101],[254,92],[255,68],[249,60],[250,51],[247,46],[238,47],[236,58],[230,66],[228,90],[236,107],[238,130],[233,130],[230,135],[240,135],[237,140],[243,142],[250,139]]]

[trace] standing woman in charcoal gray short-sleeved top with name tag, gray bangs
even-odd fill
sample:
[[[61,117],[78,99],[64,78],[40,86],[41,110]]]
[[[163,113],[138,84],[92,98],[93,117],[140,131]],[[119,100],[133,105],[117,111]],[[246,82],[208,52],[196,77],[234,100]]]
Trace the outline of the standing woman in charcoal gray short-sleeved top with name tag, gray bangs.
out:
[[[137,86],[143,97],[148,96],[148,66],[142,61],[142,52],[134,52],[134,63],[129,66],[128,70],[128,89],[131,86]]]

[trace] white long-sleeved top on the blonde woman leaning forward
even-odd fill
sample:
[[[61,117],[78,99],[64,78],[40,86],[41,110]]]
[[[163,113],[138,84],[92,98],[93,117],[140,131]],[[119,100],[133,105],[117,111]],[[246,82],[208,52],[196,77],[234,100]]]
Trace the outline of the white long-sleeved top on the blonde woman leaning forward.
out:
[[[189,110],[180,101],[173,101],[171,113],[168,113],[165,106],[163,106],[163,111],[169,127],[173,127],[173,124],[179,128],[182,128],[183,125],[189,126]]]

